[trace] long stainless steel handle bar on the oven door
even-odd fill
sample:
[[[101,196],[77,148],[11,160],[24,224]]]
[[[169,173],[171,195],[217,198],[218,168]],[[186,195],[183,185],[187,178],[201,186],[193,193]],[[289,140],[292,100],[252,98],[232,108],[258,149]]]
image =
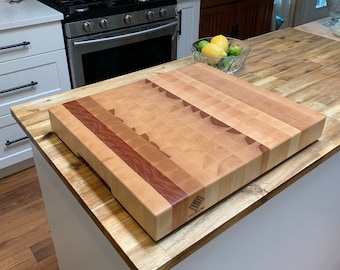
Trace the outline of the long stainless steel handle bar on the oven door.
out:
[[[100,39],[91,39],[91,40],[84,40],[84,41],[74,41],[73,45],[76,47],[76,46],[84,46],[84,45],[89,45],[89,44],[93,45],[93,44],[98,44],[98,43],[103,43],[103,42],[113,41],[113,40],[117,41],[117,40],[122,40],[122,39],[126,39],[126,38],[136,37],[136,36],[143,35],[143,34],[154,33],[154,32],[164,30],[166,28],[173,27],[173,26],[177,26],[177,21],[171,22],[171,23],[168,23],[168,24],[165,24],[165,25],[153,27],[153,28],[150,28],[150,29],[146,29],[146,30],[143,30],[143,31],[119,35],[119,36],[100,38]]]

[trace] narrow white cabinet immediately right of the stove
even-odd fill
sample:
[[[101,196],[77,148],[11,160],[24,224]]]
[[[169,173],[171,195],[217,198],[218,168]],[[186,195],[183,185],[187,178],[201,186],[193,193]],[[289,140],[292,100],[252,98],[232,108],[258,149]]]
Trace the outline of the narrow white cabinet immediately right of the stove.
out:
[[[180,18],[177,37],[177,58],[191,55],[191,44],[198,39],[200,1],[180,0],[177,2]]]

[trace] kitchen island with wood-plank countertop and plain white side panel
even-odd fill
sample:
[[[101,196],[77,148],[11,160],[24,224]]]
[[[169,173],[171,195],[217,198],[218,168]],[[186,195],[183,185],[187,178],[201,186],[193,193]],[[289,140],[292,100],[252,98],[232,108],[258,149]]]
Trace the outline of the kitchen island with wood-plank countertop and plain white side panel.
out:
[[[52,132],[47,109],[190,65],[191,57],[12,108],[32,141],[61,269],[339,267],[339,43],[291,28],[249,43],[237,76],[326,115],[323,135],[158,242]]]

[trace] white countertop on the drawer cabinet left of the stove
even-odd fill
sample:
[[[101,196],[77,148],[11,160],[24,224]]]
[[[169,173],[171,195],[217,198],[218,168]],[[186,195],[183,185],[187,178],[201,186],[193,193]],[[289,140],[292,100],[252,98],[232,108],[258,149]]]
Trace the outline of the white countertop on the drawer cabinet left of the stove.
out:
[[[62,13],[37,0],[23,0],[12,4],[9,0],[0,0],[0,31],[62,19]]]

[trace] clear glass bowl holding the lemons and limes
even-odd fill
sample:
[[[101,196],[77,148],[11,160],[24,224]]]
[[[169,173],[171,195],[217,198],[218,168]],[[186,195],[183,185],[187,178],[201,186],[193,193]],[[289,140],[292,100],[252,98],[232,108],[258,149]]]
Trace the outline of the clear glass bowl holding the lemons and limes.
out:
[[[191,51],[192,51],[195,63],[203,62],[229,74],[234,74],[235,72],[240,70],[243,67],[244,62],[246,61],[248,54],[250,53],[250,50],[251,50],[250,45],[246,41],[227,37],[229,41],[229,48],[234,45],[238,45],[242,49],[242,54],[238,56],[229,55],[229,56],[224,56],[224,57],[203,55],[199,51],[197,45],[201,40],[207,40],[210,42],[211,38],[212,37],[201,38],[201,39],[196,40],[192,44]]]

